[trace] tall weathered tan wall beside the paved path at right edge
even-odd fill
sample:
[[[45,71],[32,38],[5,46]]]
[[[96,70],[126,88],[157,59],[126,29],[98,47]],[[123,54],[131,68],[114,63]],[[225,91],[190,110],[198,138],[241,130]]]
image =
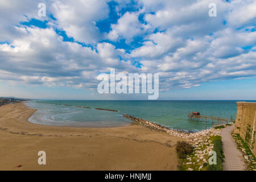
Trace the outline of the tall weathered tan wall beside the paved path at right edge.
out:
[[[237,118],[234,133],[240,134],[256,155],[256,103],[237,102]]]

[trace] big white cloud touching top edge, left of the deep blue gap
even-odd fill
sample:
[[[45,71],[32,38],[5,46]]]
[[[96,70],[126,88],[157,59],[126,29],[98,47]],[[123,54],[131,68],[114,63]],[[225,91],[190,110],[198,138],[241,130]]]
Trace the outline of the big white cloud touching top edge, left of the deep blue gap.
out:
[[[108,18],[109,7],[103,0],[56,1],[51,5],[56,24],[69,37],[86,44],[96,44],[102,35],[96,21]]]

